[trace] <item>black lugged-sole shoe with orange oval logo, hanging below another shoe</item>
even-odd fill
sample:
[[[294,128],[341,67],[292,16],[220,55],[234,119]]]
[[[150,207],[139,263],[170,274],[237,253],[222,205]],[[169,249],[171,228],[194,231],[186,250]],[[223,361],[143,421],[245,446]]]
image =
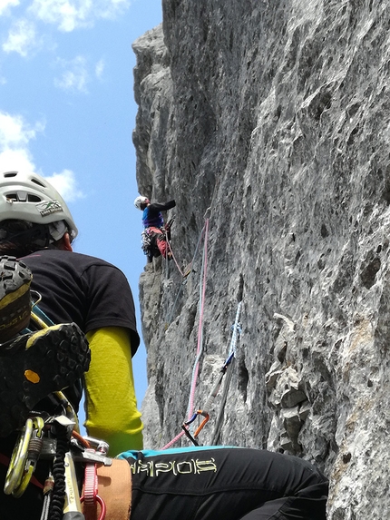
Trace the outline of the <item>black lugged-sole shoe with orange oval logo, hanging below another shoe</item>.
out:
[[[90,350],[75,323],[23,334],[0,347],[0,437],[22,427],[49,394],[70,387],[90,364]]]

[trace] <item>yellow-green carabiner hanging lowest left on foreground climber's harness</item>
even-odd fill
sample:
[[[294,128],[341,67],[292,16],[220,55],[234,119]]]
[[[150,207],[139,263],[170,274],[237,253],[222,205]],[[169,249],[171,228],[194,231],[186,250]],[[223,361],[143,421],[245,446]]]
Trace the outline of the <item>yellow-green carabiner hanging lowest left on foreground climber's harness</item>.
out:
[[[5,495],[22,496],[33,476],[42,448],[44,419],[32,417],[25,421],[24,429],[15,445],[5,476]]]

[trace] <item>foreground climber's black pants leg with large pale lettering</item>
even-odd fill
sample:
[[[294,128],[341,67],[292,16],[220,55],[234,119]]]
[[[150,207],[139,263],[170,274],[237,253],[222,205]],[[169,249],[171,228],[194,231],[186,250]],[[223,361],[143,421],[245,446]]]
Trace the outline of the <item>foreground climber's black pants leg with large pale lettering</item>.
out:
[[[327,478],[294,456],[202,446],[122,457],[132,466],[131,520],[326,518]]]

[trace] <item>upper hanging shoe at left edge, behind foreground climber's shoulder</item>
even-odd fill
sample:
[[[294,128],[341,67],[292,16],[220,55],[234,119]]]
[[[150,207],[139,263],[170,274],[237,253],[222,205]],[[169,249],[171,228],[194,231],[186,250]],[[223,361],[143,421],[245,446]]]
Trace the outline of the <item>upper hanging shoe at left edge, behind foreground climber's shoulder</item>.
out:
[[[0,342],[27,327],[31,315],[31,270],[15,257],[0,258]]]

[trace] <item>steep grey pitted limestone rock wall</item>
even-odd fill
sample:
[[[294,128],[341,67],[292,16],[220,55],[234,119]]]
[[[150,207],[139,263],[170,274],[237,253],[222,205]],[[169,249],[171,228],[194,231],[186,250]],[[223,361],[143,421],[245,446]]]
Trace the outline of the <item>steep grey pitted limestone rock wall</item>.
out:
[[[134,44],[137,180],[176,199],[193,262],[141,275],[146,445],[180,433],[200,344],[204,407],[242,299],[200,443],[302,456],[330,478],[329,519],[389,518],[390,4],[162,5]]]

